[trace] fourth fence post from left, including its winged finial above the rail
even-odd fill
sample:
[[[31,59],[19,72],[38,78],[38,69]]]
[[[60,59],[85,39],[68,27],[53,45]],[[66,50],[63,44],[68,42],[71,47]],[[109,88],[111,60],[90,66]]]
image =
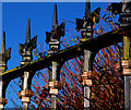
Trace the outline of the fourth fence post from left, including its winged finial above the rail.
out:
[[[83,20],[76,19],[76,29],[82,29],[82,39],[80,41],[86,41],[93,38],[93,25],[98,23],[98,15],[100,9],[97,8],[91,14],[91,0],[86,0],[85,16]],[[91,51],[84,49],[84,69],[83,69],[83,87],[84,87],[84,110],[90,110],[90,99],[91,99]]]

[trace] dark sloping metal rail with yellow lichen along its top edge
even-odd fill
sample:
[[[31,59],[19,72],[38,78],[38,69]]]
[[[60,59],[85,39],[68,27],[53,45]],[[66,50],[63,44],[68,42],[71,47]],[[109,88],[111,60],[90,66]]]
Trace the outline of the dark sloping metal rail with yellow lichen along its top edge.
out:
[[[67,49],[60,50],[52,56],[39,58],[35,61],[26,63],[25,65],[20,65],[12,70],[5,71],[4,73],[1,73],[0,76],[2,76],[3,81],[7,81],[20,77],[24,73],[24,71],[32,71],[35,73],[36,71],[51,66],[51,61],[56,61],[59,63],[61,60],[68,61],[75,57],[82,56],[84,49],[97,53],[97,51],[102,48],[121,42],[123,34],[120,33],[122,32],[123,30],[120,29],[108,32],[106,34],[99,35],[96,38],[92,38],[90,40],[82,41]]]

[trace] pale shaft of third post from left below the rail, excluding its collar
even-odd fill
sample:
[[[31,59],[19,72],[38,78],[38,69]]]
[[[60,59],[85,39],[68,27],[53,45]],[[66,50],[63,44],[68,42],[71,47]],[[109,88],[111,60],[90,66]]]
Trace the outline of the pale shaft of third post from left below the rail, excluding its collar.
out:
[[[51,75],[52,82],[57,81],[57,62],[52,61],[52,75]],[[56,95],[51,95],[51,110],[57,109],[57,102],[56,102]]]

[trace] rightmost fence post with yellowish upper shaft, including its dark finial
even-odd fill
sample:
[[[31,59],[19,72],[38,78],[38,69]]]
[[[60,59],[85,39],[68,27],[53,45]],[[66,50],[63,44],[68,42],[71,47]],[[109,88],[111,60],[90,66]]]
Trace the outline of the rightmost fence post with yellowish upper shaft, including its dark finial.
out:
[[[129,26],[130,23],[130,13],[131,13],[131,9],[130,9],[130,2],[131,0],[122,0],[122,9],[120,12],[120,27],[124,27],[124,26]],[[123,36],[123,57],[121,60],[123,60],[123,64],[124,61],[130,61],[131,60],[131,47],[130,47],[130,37],[128,36]],[[128,68],[127,68],[128,66]],[[122,65],[123,68],[123,75],[124,75],[124,110],[130,110],[131,109],[131,94],[130,94],[130,86],[131,86],[131,76],[130,76],[130,63],[128,62],[128,64]],[[126,76],[128,72],[129,76]]]

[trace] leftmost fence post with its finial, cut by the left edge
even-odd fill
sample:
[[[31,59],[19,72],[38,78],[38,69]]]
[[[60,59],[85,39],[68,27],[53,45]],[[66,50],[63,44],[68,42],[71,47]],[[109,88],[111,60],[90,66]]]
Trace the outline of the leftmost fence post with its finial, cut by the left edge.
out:
[[[1,53],[0,53],[0,73],[5,72],[8,69],[7,62],[11,58],[11,48],[5,51],[5,32],[3,32],[2,44],[1,44]],[[0,77],[0,109],[3,109],[4,105],[8,102],[5,99],[5,93],[3,93],[3,81]]]

